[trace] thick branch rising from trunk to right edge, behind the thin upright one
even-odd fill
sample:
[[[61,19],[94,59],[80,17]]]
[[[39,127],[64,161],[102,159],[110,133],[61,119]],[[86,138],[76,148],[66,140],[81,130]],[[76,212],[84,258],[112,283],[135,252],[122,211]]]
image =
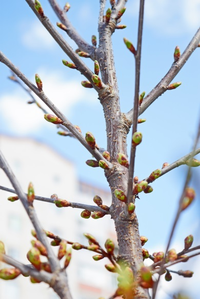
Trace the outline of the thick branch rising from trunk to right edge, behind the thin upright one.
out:
[[[178,72],[183,68],[186,61],[189,59],[190,55],[194,52],[194,50],[198,47],[198,43],[200,40],[200,28],[190,41],[190,44],[178,59],[177,62],[173,62],[169,72],[165,75],[165,77],[159,81],[159,83],[154,87],[154,89],[144,98],[141,107],[139,108],[138,115],[141,115],[159,96],[161,96],[164,92],[166,92],[166,87],[173,80],[173,78],[178,74]],[[133,118],[133,109],[131,109],[128,113],[126,113],[126,118],[132,122]]]

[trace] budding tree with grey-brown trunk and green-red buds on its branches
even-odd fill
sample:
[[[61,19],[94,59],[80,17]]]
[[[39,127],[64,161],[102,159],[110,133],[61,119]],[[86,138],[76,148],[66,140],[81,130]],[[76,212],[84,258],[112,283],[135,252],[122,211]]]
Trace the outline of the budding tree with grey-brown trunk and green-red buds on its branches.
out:
[[[170,265],[173,265],[177,262],[186,261],[188,257],[183,255],[199,248],[199,246],[197,246],[193,249],[189,249],[192,245],[193,237],[188,236],[185,240],[185,249],[183,251],[176,253],[173,249],[169,250],[173,231],[179,215],[190,205],[195,196],[194,190],[189,187],[189,181],[191,172],[190,167],[199,165],[199,161],[193,158],[200,152],[200,149],[196,148],[199,139],[199,132],[195,138],[193,151],[190,154],[178,159],[178,161],[175,161],[170,165],[168,163],[164,163],[162,169],[156,169],[146,179],[138,181],[138,178],[136,176],[134,177],[134,165],[135,153],[137,146],[142,141],[142,133],[139,132],[140,130],[137,130],[137,123],[145,121],[144,119],[138,119],[138,116],[141,115],[159,96],[161,96],[167,90],[176,89],[181,84],[181,82],[173,82],[173,78],[185,65],[185,62],[188,60],[192,52],[194,52],[194,50],[198,47],[200,31],[197,31],[182,55],[179,47],[175,48],[174,62],[172,67],[166,76],[156,85],[156,87],[146,97],[144,92],[139,94],[144,14],[144,1],[141,0],[139,9],[137,47],[134,47],[132,42],[124,38],[125,45],[135,58],[134,106],[133,109],[128,113],[122,113],[121,106],[119,104],[119,94],[114,67],[111,36],[115,29],[125,28],[125,26],[118,24],[125,12],[126,1],[118,0],[116,3],[115,1],[110,1],[111,7],[107,10],[105,9],[106,1],[100,1],[98,22],[99,46],[96,47],[95,36],[92,36],[92,45],[90,45],[78,35],[76,30],[69,23],[66,15],[66,12],[69,10],[69,5],[66,4],[64,10],[62,10],[54,0],[49,0],[49,3],[61,21],[61,23],[57,23],[57,26],[66,31],[68,35],[76,42],[78,46],[78,50],[76,50],[76,52],[72,50],[63,36],[60,35],[53,27],[49,19],[46,17],[42,5],[38,1],[33,3],[32,0],[26,0],[26,2],[29,4],[35,15],[42,22],[51,36],[55,39],[57,44],[62,48],[64,53],[66,53],[70,58],[70,61],[63,60],[64,65],[81,72],[87,79],[87,81],[82,81],[83,87],[93,88],[97,92],[105,114],[107,132],[106,150],[102,149],[96,144],[95,138],[91,132],[87,132],[86,136],[82,135],[79,127],[74,126],[66,118],[66,116],[58,110],[58,108],[43,92],[42,78],[40,78],[39,75],[35,75],[35,81],[37,85],[37,87],[35,87],[35,85],[25,75],[23,75],[21,71],[19,71],[2,52],[0,53],[0,61],[7,65],[14,73],[11,79],[20,83],[20,81],[17,79],[17,77],[19,77],[27,85],[27,87],[30,88],[30,90],[37,95],[52,111],[53,115],[49,114],[42,108],[45,113],[45,119],[49,122],[59,125],[59,127],[62,127],[63,131],[60,133],[61,135],[74,136],[83,144],[83,146],[87,148],[95,160],[90,159],[86,161],[86,163],[91,167],[99,166],[105,170],[105,176],[112,193],[112,205],[107,207],[103,205],[100,198],[96,197],[94,198],[94,202],[97,206],[91,207],[82,205],[82,208],[85,209],[82,212],[82,217],[90,217],[91,211],[93,212],[92,218],[94,219],[102,218],[106,214],[110,214],[115,223],[119,247],[117,257],[115,257],[113,254],[114,244],[111,240],[106,241],[105,251],[97,243],[96,236],[93,238],[89,234],[86,235],[86,238],[89,240],[88,249],[98,253],[95,259],[98,260],[102,257],[108,257],[111,264],[107,264],[107,269],[111,272],[118,273],[119,286],[116,290],[116,293],[112,297],[114,298],[117,295],[123,295],[126,298],[150,298],[148,289],[153,288],[152,298],[155,298],[159,276],[164,273],[164,269],[168,269]],[[87,67],[81,57],[94,60],[94,72]],[[99,71],[101,71],[101,78],[98,76]],[[31,101],[35,102],[33,96]],[[128,160],[126,138],[132,124],[132,146],[130,160]],[[156,140],[154,142],[156,144]],[[138,198],[139,193],[150,193],[152,191],[152,187],[149,185],[149,183],[152,183],[162,175],[182,164],[189,166],[188,175],[183,188],[182,196],[179,200],[177,215],[174,221],[169,242],[167,244],[166,252],[158,252],[154,254],[154,256],[149,255],[149,252],[142,248],[142,245],[145,244],[147,239],[145,237],[139,236],[138,221],[135,214],[135,200]],[[35,237],[38,239],[38,241],[35,241],[33,244],[31,251],[28,252],[28,259],[34,268],[23,265],[8,257],[4,252],[4,244],[1,243],[3,261],[15,267],[14,270],[1,270],[0,273],[2,273],[2,278],[13,279],[21,273],[25,275],[29,274],[31,277],[33,277],[33,281],[44,281],[48,283],[61,298],[71,298],[65,269],[61,270],[59,261],[53,254],[46,236],[59,243],[59,257],[62,257],[62,255],[65,256],[66,267],[69,264],[71,253],[70,251],[66,251],[65,246],[66,243],[69,242],[65,240],[62,241],[61,239],[57,238],[57,236],[54,236],[51,232],[45,233],[43,231],[43,228],[39,224],[39,221],[36,217],[33,206],[33,200],[38,198],[34,196],[32,184],[29,185],[28,196],[25,195],[3,155],[1,155],[0,158],[0,165],[6,175],[9,177],[14,187],[14,192],[17,194],[17,198],[12,198],[11,200],[13,201],[19,198],[22,201],[35,228]],[[70,202],[59,200],[56,197],[52,199],[58,206],[71,205]],[[72,248],[74,249],[81,249],[82,247],[83,246],[78,243],[72,244]],[[45,250],[47,250],[47,252]],[[48,271],[49,269],[46,268],[46,271],[40,271],[44,265],[42,265],[39,261],[39,255],[42,252],[44,253],[44,251],[45,254],[48,255],[51,269],[50,273]],[[199,253],[197,252],[195,254]],[[141,267],[143,259],[145,258],[150,258],[154,261],[154,264],[151,266],[151,268],[145,266]],[[159,274],[158,280],[155,282],[153,282],[152,279],[152,274],[154,273]],[[192,276],[192,272],[179,271],[178,274],[185,277]],[[169,270],[166,272],[166,280],[170,280]]]

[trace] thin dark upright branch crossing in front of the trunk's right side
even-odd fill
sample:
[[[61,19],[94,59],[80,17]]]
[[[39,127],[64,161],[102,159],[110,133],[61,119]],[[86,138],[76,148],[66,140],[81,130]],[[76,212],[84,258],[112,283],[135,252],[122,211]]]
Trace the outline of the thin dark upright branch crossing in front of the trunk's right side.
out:
[[[141,72],[141,49],[142,49],[142,35],[143,35],[143,18],[144,18],[144,4],[145,0],[140,1],[139,7],[139,25],[137,35],[137,52],[135,55],[135,96],[133,106],[133,130],[132,136],[137,131],[137,118],[138,118],[138,102],[139,102],[139,77]],[[135,165],[136,146],[131,146],[129,176],[128,176],[128,190],[127,190],[127,203],[133,200],[133,176]]]

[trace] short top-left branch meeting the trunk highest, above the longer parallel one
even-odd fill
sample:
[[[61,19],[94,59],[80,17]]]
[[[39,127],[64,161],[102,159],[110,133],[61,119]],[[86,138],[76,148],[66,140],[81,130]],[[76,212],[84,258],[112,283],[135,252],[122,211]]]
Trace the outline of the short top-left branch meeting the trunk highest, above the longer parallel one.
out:
[[[73,39],[75,41],[76,45],[78,46],[78,48],[81,51],[89,53],[90,58],[92,60],[94,60],[95,59],[94,58],[95,47],[89,45],[88,42],[86,42],[83,39],[83,37],[81,35],[79,35],[79,33],[76,31],[76,29],[70,23],[66,12],[63,9],[61,9],[61,7],[57,4],[56,0],[49,0],[49,3],[51,5],[51,7],[53,8],[55,14],[61,21],[61,23],[67,27],[66,32],[69,35],[69,37],[71,37],[71,39]]]

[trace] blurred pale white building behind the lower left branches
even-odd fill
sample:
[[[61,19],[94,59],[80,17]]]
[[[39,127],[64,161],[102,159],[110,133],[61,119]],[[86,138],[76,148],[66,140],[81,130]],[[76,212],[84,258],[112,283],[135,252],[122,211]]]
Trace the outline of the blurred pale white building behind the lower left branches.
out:
[[[93,205],[93,196],[98,195],[104,204],[111,204],[109,191],[80,182],[74,164],[47,145],[32,139],[0,136],[0,148],[24,191],[27,191],[31,181],[35,194],[39,196],[50,197],[56,193],[59,198],[71,202]],[[2,169],[0,169],[0,185],[12,188]],[[26,254],[33,239],[30,233],[33,229],[32,224],[20,201],[7,200],[13,194],[0,190],[0,195],[0,240],[5,243],[8,255],[29,264]],[[68,241],[87,245],[83,232],[93,234],[102,245],[107,238],[115,240],[114,224],[110,221],[110,216],[98,220],[83,219],[80,216],[81,209],[57,208],[54,204],[36,200],[34,207],[44,229]],[[57,249],[54,248],[55,252]],[[109,297],[116,286],[115,274],[109,273],[104,267],[108,260],[95,262],[92,259],[94,254],[84,249],[72,251],[72,260],[67,273],[74,298]],[[0,267],[4,268],[7,265],[1,263]],[[13,281],[0,280],[0,297],[55,299],[57,295],[45,283],[31,284],[29,277],[20,275]]]

